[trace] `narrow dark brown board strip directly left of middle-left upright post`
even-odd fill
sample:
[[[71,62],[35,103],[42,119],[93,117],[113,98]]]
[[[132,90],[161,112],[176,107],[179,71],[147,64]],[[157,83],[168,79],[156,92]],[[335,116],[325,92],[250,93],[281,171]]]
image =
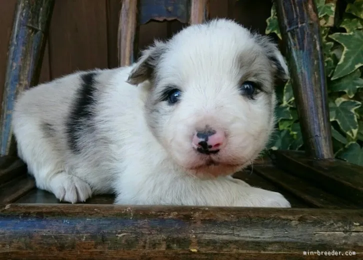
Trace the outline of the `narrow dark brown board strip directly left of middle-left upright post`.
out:
[[[117,33],[118,33],[118,20],[121,10],[121,0],[107,0],[107,56],[108,68],[115,68],[118,66],[117,58]]]

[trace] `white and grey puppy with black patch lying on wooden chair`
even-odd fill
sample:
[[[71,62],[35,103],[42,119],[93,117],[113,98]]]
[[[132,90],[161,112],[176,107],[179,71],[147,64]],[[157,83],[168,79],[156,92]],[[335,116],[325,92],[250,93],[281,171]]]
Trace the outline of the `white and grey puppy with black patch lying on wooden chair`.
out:
[[[227,19],[156,41],[128,67],[76,72],[24,91],[18,155],[61,201],[114,193],[115,204],[290,207],[232,179],[273,129],[277,47]]]

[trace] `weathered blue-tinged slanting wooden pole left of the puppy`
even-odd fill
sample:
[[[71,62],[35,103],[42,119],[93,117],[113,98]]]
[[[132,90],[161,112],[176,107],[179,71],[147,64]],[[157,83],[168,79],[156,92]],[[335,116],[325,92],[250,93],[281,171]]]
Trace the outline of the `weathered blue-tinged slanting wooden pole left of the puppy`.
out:
[[[1,107],[1,155],[15,154],[11,112],[18,93],[38,82],[54,0],[18,0]]]

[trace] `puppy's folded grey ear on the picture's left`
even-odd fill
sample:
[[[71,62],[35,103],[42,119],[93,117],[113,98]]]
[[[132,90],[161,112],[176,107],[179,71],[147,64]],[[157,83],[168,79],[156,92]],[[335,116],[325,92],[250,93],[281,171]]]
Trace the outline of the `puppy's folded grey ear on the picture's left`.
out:
[[[126,82],[137,85],[152,77],[161,55],[166,51],[166,43],[155,41],[154,45],[142,51],[135,67],[131,70]]]

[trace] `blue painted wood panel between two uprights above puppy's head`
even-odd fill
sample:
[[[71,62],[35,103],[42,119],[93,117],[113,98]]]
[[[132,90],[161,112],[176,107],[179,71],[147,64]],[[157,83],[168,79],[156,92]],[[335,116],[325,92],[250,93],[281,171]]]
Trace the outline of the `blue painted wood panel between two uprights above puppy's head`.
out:
[[[141,0],[139,24],[149,20],[174,20],[187,23],[190,13],[190,0]]]

